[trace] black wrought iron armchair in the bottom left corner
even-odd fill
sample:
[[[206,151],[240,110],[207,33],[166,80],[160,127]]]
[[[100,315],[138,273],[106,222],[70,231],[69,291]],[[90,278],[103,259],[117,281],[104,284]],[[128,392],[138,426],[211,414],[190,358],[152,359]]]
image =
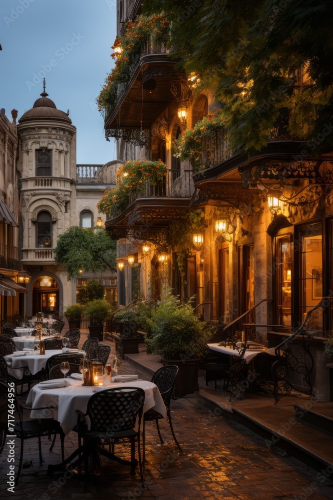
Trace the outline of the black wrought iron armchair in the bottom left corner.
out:
[[[20,450],[20,457],[19,457],[19,464],[18,464],[18,470],[15,478],[15,484],[17,484],[20,472],[21,472],[21,467],[22,467],[22,461],[23,461],[23,445],[25,439],[31,439],[31,438],[38,438],[38,448],[39,448],[39,462],[40,464],[42,463],[42,456],[41,456],[41,441],[40,438],[42,436],[51,436],[51,435],[60,435],[60,440],[61,440],[61,456],[62,460],[64,460],[64,438],[65,434],[63,433],[62,428],[60,427],[59,422],[54,420],[53,418],[45,418],[41,417],[35,420],[22,420],[22,414],[23,414],[23,409],[28,409],[30,410],[31,408],[23,407],[22,405],[19,405],[15,395],[11,398],[13,401],[13,404],[15,406],[15,410],[19,415],[19,421],[14,423],[13,426],[13,432],[21,440],[21,450]],[[0,382],[0,407],[2,407],[2,403],[5,401],[6,404],[8,404],[8,385]],[[50,409],[50,407],[41,407],[41,408],[34,408],[37,410],[44,410],[44,409]],[[8,422],[7,422],[8,426]],[[2,428],[2,424],[0,423],[0,453],[3,449],[4,443],[6,441],[6,430]],[[53,443],[51,445],[50,450],[52,450]]]

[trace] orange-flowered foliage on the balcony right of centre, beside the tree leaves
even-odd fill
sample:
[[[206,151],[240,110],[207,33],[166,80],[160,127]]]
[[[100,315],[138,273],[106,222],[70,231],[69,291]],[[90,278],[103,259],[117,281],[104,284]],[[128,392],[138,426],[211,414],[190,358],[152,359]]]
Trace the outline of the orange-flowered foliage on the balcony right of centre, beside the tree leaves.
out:
[[[222,115],[221,109],[208,113],[202,120],[197,121],[193,128],[187,128],[175,140],[175,156],[181,161],[188,159],[196,171],[205,168],[206,165],[202,162],[202,153],[207,151],[207,138],[225,125],[226,119]],[[207,160],[209,159],[208,154]]]

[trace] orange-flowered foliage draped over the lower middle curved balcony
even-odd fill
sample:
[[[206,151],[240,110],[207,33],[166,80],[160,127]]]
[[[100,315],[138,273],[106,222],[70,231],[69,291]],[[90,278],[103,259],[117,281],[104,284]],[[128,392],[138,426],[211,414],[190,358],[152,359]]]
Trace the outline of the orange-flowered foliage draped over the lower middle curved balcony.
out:
[[[98,211],[117,215],[129,204],[129,195],[144,195],[146,180],[150,185],[167,174],[167,165],[163,161],[127,161],[116,174],[117,187],[104,191],[104,196],[97,203]]]

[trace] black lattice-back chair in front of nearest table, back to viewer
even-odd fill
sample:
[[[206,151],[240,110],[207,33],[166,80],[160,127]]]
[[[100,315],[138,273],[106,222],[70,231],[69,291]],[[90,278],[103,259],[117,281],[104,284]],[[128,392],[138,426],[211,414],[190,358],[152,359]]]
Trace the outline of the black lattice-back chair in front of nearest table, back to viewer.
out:
[[[138,459],[140,467],[141,483],[143,481],[141,446],[140,446],[140,424],[145,399],[144,390],[139,387],[117,387],[105,389],[93,394],[87,406],[87,412],[83,414],[76,410],[81,416],[88,416],[90,430],[78,426],[79,438],[83,438],[82,454],[84,458],[85,481],[89,473],[89,456],[96,457],[96,446],[109,444],[112,448],[120,442],[131,443],[131,475],[135,474],[135,443],[138,447]],[[135,430],[135,426],[137,430]],[[101,455],[114,459],[114,454],[105,447],[98,447]],[[93,463],[95,470],[99,469],[100,463]]]

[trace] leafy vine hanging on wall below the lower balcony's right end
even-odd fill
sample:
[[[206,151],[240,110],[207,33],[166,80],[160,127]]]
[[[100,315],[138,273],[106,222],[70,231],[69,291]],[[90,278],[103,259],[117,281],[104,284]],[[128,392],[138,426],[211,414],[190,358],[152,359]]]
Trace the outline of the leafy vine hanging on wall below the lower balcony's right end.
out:
[[[177,264],[181,276],[185,275],[186,258],[195,253],[193,232],[205,229],[205,212],[201,208],[188,214],[186,220],[175,220],[169,226],[169,244],[177,251]]]

